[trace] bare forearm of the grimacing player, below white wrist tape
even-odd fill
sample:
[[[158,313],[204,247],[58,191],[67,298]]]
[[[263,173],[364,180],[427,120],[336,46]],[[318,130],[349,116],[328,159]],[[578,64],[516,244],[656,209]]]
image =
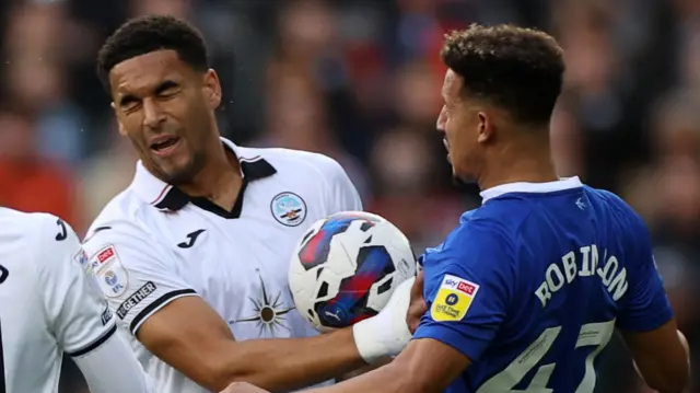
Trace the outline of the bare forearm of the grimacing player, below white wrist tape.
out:
[[[218,391],[233,381],[291,391],[366,366],[350,328],[308,338],[236,342],[232,351],[219,368],[222,375],[213,386]]]

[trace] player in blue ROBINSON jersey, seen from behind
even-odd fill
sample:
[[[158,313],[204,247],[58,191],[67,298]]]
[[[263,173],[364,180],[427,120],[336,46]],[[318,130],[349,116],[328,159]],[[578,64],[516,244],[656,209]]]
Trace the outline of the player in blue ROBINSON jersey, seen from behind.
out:
[[[561,48],[541,32],[475,25],[447,36],[441,55],[438,128],[455,176],[476,180],[483,204],[421,257],[430,311],[408,347],[308,392],[592,393],[617,331],[652,389],[680,393],[687,342],[644,223],[616,195],[555,172]]]

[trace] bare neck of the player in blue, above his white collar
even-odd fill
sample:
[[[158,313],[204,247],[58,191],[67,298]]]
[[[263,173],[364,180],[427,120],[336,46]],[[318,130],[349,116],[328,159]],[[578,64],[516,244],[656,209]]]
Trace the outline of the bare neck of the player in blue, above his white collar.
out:
[[[527,142],[505,146],[488,161],[478,176],[480,189],[508,183],[547,183],[559,180],[548,139],[530,138]]]

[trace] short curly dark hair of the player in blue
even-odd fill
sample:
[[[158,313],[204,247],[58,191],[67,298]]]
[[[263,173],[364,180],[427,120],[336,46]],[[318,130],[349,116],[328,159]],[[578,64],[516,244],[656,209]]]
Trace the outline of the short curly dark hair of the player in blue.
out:
[[[445,35],[443,62],[464,79],[463,93],[487,100],[526,124],[549,123],[563,83],[563,50],[550,35],[513,25]]]

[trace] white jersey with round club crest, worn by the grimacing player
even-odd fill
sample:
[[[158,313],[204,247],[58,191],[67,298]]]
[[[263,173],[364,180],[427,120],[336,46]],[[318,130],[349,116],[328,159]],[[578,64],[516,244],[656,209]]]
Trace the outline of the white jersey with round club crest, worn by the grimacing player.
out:
[[[159,392],[206,392],[136,338],[141,324],[176,299],[201,297],[237,340],[316,335],[294,309],[291,254],[316,220],[362,209],[346,172],[325,155],[223,143],[244,176],[231,211],[188,197],[139,163],[131,185],[83,242],[119,331]]]

